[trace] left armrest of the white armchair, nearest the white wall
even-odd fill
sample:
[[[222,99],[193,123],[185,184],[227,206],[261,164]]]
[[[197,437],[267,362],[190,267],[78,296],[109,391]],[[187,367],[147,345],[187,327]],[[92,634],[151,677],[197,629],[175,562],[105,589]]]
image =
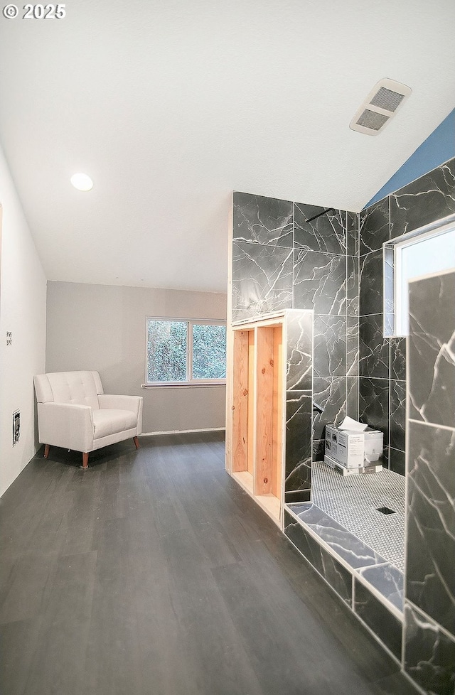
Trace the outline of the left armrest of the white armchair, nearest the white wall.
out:
[[[93,416],[90,406],[38,403],[38,430],[42,444],[73,451],[92,451]]]

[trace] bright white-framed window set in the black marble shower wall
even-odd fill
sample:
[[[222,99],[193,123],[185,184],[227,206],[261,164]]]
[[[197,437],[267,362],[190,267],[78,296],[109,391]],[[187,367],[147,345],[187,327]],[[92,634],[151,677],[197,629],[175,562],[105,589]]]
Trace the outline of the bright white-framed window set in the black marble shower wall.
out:
[[[455,267],[454,216],[384,244],[384,335],[407,335],[408,283]]]

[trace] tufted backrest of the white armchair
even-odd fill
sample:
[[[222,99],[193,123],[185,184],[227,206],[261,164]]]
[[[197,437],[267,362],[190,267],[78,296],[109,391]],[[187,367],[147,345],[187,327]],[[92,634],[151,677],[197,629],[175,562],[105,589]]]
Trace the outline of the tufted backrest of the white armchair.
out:
[[[38,403],[73,403],[98,410],[98,394],[104,393],[98,372],[50,372],[35,379]]]

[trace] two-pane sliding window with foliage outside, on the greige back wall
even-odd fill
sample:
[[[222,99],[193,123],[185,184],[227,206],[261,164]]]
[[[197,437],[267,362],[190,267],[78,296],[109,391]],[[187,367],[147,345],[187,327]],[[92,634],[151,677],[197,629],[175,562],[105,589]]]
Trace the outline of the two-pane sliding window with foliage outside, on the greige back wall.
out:
[[[146,340],[146,385],[225,383],[225,323],[147,318]]]

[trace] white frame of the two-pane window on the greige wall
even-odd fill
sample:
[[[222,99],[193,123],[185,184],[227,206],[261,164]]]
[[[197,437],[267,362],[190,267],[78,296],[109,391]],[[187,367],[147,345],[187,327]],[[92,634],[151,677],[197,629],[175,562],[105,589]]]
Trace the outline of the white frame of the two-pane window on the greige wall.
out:
[[[166,321],[168,323],[186,323],[186,381],[149,381],[149,321]],[[169,316],[146,316],[145,318],[145,383],[142,388],[194,388],[194,387],[213,387],[226,385],[226,377],[221,379],[193,379],[193,325],[221,325],[227,329],[226,320],[210,318],[171,318]]]

